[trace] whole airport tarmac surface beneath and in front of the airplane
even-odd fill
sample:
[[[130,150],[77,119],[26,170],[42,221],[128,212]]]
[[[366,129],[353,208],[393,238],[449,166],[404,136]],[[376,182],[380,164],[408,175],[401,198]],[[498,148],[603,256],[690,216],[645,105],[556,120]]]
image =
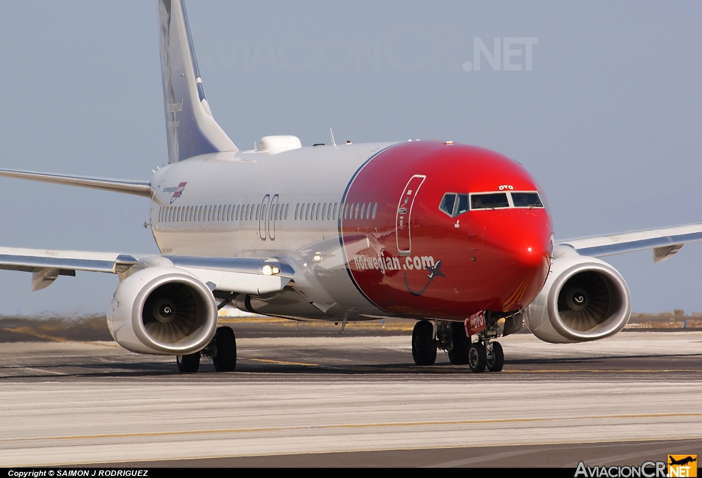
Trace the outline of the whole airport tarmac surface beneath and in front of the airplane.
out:
[[[237,371],[107,342],[0,344],[0,466],[570,466],[702,454],[702,332],[500,340],[501,373],[409,336],[237,341]],[[521,458],[520,458],[521,457]],[[600,460],[600,461],[598,461]]]

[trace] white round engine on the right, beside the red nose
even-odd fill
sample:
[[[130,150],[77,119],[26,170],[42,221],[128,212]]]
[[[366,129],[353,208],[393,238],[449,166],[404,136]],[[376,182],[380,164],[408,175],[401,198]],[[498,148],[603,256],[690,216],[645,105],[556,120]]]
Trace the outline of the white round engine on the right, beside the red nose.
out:
[[[629,287],[616,269],[574,252],[553,259],[543,289],[525,310],[539,339],[583,342],[616,334],[629,322]]]

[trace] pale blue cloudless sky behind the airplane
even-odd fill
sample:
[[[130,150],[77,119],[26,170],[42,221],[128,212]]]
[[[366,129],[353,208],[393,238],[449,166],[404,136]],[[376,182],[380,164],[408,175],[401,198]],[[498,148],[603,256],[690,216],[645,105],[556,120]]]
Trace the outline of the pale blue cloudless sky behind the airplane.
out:
[[[208,101],[240,149],[325,142],[330,126],[338,141],[451,139],[523,163],[559,238],[702,221],[699,2],[187,7]],[[156,15],[143,0],[3,2],[0,167],[149,179],[166,161]],[[532,70],[517,56],[522,71],[463,71],[475,37],[538,39]],[[156,251],[144,198],[0,179],[0,204],[0,245]],[[702,311],[702,244],[609,261],[633,310]],[[29,283],[0,271],[0,314],[103,312],[117,278]]]

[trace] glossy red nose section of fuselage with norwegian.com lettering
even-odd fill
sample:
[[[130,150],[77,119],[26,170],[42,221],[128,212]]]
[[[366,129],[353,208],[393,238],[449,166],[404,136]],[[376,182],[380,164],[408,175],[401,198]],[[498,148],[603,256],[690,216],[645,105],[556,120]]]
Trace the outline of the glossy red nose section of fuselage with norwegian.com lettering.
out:
[[[478,310],[527,306],[550,266],[547,210],[458,217],[439,210],[444,193],[501,186],[538,190],[521,165],[486,149],[411,142],[378,153],[344,199],[352,205],[340,219],[352,280],[378,307],[406,317],[463,320]]]

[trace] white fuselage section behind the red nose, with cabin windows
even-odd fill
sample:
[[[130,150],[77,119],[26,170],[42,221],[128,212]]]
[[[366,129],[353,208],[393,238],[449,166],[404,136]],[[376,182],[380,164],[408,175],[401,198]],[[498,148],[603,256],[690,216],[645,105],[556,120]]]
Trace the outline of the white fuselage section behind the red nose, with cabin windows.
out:
[[[234,302],[241,308],[326,320],[385,316],[349,278],[339,210],[357,170],[392,144],[213,153],[173,163],[152,179],[154,239],[161,254],[284,257],[301,271],[290,290],[265,302],[241,296]]]

